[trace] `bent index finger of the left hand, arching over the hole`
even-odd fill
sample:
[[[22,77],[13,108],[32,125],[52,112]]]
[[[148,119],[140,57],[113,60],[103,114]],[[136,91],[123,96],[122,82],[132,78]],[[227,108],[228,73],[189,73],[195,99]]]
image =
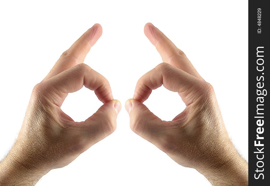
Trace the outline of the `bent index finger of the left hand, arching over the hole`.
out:
[[[107,79],[86,64],[78,64],[41,83],[47,97],[58,106],[62,105],[68,93],[78,91],[83,85],[95,91],[103,103],[113,100]]]

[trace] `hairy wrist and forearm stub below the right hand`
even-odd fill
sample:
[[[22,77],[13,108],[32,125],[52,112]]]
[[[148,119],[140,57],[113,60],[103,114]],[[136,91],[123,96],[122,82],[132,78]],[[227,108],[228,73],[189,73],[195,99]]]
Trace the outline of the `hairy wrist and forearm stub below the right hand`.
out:
[[[219,166],[212,166],[209,169],[198,170],[213,186],[248,185],[248,163],[238,154],[230,157],[229,161]]]

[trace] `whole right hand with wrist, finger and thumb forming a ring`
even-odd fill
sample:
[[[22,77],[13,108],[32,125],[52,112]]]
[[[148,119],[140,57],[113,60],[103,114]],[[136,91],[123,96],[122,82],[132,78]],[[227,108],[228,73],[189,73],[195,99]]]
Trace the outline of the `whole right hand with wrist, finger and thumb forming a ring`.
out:
[[[138,80],[133,99],[126,102],[131,129],[213,185],[248,185],[248,165],[227,134],[213,87],[159,29],[148,23],[144,32],[164,63]],[[142,104],[162,84],[187,106],[170,122]]]

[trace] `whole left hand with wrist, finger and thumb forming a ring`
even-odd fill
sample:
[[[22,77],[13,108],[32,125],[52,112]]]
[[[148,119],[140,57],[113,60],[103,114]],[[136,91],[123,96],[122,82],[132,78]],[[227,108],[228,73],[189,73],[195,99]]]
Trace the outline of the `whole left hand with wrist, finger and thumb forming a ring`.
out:
[[[106,78],[83,64],[101,33],[99,24],[85,32],[34,87],[18,138],[0,164],[0,183],[34,185],[48,171],[68,165],[115,130],[121,104],[113,99]],[[104,104],[84,122],[74,122],[61,105],[68,93],[83,85]]]

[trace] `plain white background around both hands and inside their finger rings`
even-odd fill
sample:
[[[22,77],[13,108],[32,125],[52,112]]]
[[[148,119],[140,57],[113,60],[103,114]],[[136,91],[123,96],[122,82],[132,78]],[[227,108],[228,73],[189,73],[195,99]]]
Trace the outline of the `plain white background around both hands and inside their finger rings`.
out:
[[[95,23],[103,34],[85,63],[105,76],[122,103],[116,131],[37,185],[210,185],[196,170],[170,159],[129,128],[124,103],[137,80],[161,63],[143,28],[152,22],[186,53],[215,89],[237,150],[248,160],[247,1],[1,1],[0,158],[20,130],[32,88],[56,60]],[[177,93],[154,90],[146,106],[163,120],[184,109]],[[75,121],[101,102],[83,87],[62,109]]]

